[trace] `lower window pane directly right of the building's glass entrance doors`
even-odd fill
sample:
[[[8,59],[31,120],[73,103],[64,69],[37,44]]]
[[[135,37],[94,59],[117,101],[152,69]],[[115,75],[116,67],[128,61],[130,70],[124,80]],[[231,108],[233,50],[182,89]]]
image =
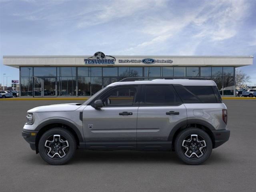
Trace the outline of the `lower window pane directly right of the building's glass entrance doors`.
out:
[[[76,78],[58,78],[58,96],[76,96]]]

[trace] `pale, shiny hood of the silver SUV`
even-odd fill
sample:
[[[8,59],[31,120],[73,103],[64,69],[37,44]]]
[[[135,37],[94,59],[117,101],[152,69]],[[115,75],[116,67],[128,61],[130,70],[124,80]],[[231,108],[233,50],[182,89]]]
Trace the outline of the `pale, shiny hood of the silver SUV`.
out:
[[[34,113],[34,112],[75,111],[78,108],[80,108],[80,106],[81,106],[80,103],[54,104],[54,105],[35,107],[28,110],[28,112]]]

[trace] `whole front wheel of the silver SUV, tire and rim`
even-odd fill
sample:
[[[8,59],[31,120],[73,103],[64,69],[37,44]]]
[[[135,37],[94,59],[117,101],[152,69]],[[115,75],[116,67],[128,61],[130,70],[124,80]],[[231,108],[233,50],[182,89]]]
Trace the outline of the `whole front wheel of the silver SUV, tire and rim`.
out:
[[[40,156],[52,165],[66,164],[74,156],[76,147],[73,134],[63,128],[46,131],[38,143]]]

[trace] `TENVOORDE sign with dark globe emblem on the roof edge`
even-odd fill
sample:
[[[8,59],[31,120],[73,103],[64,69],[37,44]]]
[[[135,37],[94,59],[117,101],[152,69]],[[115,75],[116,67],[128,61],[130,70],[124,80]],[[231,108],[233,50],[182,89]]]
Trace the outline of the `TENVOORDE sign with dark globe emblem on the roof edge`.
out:
[[[105,55],[102,52],[96,52],[92,57],[85,58],[85,64],[115,64],[116,58]]]

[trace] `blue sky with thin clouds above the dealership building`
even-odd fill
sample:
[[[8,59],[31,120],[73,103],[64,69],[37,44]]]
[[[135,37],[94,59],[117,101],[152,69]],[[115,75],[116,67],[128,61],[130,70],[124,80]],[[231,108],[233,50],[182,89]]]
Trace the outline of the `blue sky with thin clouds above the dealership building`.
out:
[[[3,55],[252,55],[256,0],[0,0],[0,82],[18,79]],[[6,82],[6,78],[5,78]]]

